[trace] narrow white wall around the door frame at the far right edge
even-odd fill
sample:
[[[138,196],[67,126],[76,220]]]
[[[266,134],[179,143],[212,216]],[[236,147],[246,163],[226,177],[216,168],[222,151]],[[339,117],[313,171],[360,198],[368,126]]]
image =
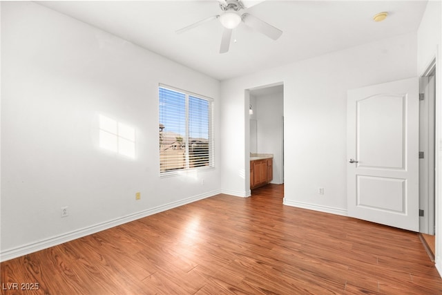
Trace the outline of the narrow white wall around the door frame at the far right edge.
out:
[[[417,32],[417,74],[436,58],[436,267],[442,274],[442,3],[428,1]]]

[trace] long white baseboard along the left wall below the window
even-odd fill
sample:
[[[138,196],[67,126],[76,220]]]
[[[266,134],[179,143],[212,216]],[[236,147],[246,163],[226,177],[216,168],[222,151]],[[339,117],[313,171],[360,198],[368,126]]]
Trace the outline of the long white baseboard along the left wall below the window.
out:
[[[65,234],[53,236],[52,238],[46,238],[44,240],[39,240],[37,242],[30,242],[26,245],[21,245],[19,247],[6,249],[6,250],[0,252],[0,262],[10,260],[12,258],[17,258],[17,257],[23,256],[26,254],[30,254],[35,251],[47,249],[49,247],[54,247],[54,246],[63,244],[64,242],[69,242],[70,240],[75,240],[77,238],[88,236],[90,234],[95,234],[99,231],[104,231],[105,229],[117,227],[118,225],[122,225],[124,223],[131,222],[133,220],[144,218],[146,216],[150,216],[155,213],[160,213],[162,211],[173,209],[175,207],[180,207],[184,204],[189,204],[191,202],[202,200],[204,198],[209,198],[211,196],[218,195],[218,193],[221,193],[221,191],[210,191],[208,193],[202,193],[198,196],[193,196],[191,198],[186,198],[186,199],[179,200],[176,202],[171,202],[169,204],[164,204],[164,205],[154,207],[151,209],[146,209],[144,211],[129,214],[127,216],[122,216],[119,218],[115,218],[113,220],[108,220],[106,222],[98,223],[96,225],[91,225],[90,227],[84,227],[82,229],[70,231]]]

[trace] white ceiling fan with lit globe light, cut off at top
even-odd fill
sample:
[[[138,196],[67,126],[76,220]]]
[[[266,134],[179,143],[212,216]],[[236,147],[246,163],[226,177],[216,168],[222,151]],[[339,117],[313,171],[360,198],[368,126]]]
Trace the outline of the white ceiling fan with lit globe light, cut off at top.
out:
[[[220,15],[207,17],[202,21],[198,21],[190,26],[177,30],[176,33],[181,34],[182,32],[186,32],[186,30],[201,26],[202,24],[212,21],[213,19],[220,19],[220,23],[222,26],[224,26],[224,32],[222,32],[221,38],[220,53],[227,53],[227,51],[229,51],[232,30],[241,22],[273,40],[278,39],[280,35],[282,35],[282,30],[271,26],[269,23],[266,23],[261,19],[258,19],[258,17],[253,17],[253,15],[249,14],[248,12],[240,14],[240,10],[250,8],[251,6],[257,4],[257,2],[259,3],[262,1],[218,0],[218,2],[220,2],[220,8],[222,10]],[[244,2],[249,3],[249,5],[245,6]]]

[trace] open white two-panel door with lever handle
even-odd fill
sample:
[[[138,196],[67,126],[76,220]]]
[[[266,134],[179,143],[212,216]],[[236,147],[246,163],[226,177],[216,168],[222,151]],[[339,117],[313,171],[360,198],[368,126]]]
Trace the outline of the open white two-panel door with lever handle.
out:
[[[347,211],[419,231],[419,80],[348,91]]]

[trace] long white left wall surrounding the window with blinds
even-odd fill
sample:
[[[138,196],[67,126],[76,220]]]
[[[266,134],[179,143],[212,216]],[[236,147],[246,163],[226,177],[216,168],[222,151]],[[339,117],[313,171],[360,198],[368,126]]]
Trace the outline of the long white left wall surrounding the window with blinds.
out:
[[[3,260],[220,192],[218,168],[160,178],[157,140],[159,83],[215,99],[218,137],[217,80],[21,1],[1,2],[1,61]],[[135,160],[99,149],[98,114],[135,127]]]

